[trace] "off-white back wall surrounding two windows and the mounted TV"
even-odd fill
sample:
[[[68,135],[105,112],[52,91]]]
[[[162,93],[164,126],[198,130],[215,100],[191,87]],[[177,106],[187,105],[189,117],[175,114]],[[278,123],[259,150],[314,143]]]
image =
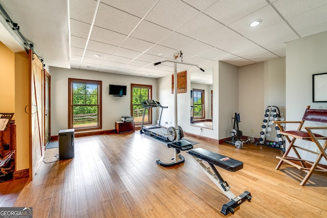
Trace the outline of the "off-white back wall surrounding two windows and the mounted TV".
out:
[[[152,85],[153,99],[157,99],[157,80],[145,77],[132,77],[82,69],[50,67],[51,75],[51,135],[68,128],[68,78],[102,81],[102,130],[115,129],[115,122],[121,116],[130,115],[130,84]],[[109,95],[109,84],[126,85],[127,95],[114,97]],[[155,123],[157,111],[153,110]],[[100,131],[100,130],[95,130]]]

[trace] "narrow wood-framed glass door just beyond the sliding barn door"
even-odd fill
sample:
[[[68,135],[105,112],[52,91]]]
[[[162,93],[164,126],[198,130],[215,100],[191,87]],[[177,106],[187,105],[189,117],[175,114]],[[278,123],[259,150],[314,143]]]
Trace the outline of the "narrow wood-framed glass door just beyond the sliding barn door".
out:
[[[50,75],[44,69],[44,146],[50,141]]]

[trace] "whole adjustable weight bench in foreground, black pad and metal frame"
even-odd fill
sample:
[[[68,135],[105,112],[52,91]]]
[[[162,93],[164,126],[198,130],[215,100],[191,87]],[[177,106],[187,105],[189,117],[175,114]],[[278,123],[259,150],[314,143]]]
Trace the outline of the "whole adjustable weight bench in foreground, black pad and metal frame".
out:
[[[245,201],[250,201],[252,196],[249,191],[244,191],[240,196],[234,195],[230,191],[230,187],[226,181],[218,173],[216,166],[226,169],[230,172],[236,172],[243,168],[243,162],[202,149],[197,148],[188,151],[188,154],[202,166],[203,171],[206,175],[222,190],[222,192],[230,200],[224,204],[221,209],[221,213],[227,215],[228,213],[234,213],[234,209]],[[205,166],[202,161],[206,161],[213,169],[214,173],[210,171],[210,168]]]

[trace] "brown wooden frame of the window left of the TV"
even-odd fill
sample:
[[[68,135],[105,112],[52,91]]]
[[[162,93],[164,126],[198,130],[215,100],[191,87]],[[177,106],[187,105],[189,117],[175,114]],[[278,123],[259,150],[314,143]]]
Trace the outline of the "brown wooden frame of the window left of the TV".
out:
[[[86,83],[98,86],[98,126],[96,127],[74,127],[73,123],[73,84],[74,83]],[[98,130],[102,129],[102,81],[98,80],[83,80],[68,78],[68,129],[75,129],[75,131],[85,131],[85,130]]]

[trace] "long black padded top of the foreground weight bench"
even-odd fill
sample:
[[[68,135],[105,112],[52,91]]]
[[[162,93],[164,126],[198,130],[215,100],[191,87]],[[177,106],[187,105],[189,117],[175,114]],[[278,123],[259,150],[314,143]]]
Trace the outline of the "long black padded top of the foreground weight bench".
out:
[[[201,160],[212,163],[216,166],[226,169],[230,172],[236,172],[243,168],[243,162],[235,160],[202,148],[192,149],[188,151],[192,156],[195,156]]]

